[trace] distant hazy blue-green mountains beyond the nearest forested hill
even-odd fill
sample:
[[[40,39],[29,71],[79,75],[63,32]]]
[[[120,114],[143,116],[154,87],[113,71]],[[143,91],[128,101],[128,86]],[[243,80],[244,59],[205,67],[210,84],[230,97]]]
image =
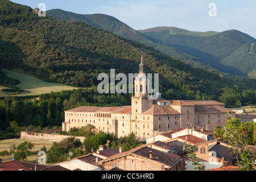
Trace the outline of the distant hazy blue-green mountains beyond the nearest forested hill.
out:
[[[195,32],[176,27],[155,27],[137,31],[117,18],[105,14],[76,14],[60,9],[48,10],[47,14],[55,19],[81,21],[102,28],[126,39],[153,47],[168,56],[183,60],[192,67],[224,75],[233,80],[240,79],[241,76],[247,77],[247,75],[255,78],[253,72],[255,65],[252,62],[254,52],[248,52],[246,49],[236,51],[237,44],[242,45],[243,42],[254,41],[254,38],[239,31],[233,35],[231,31]],[[209,38],[210,41],[208,41]],[[206,40],[204,44],[203,39]],[[230,52],[229,49],[236,52]],[[230,53],[235,54],[230,55]],[[236,54],[241,56],[237,57]],[[227,55],[230,56],[223,60]]]

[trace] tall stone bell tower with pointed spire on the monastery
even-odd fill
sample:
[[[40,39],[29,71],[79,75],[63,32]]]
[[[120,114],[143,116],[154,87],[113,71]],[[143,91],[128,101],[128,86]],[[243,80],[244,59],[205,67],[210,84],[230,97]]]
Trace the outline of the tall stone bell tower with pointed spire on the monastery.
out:
[[[139,74],[134,80],[134,96],[131,98],[131,113],[142,114],[152,105],[152,100],[148,100],[149,82],[145,73],[145,64],[143,63],[143,54],[139,64]]]

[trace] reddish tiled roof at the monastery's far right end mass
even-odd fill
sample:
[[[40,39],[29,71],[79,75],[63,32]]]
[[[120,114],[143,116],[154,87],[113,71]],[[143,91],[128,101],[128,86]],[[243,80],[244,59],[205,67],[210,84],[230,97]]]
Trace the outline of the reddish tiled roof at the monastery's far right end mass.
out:
[[[196,105],[195,113],[236,113],[235,111],[226,109],[217,105]]]

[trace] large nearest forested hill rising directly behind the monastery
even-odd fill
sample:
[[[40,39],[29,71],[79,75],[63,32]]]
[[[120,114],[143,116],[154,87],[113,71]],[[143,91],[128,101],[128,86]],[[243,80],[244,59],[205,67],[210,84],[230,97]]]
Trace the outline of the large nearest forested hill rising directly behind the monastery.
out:
[[[82,22],[39,17],[31,7],[7,0],[0,5],[0,49],[2,68],[20,68],[45,81],[72,86],[97,85],[98,74],[110,73],[111,68],[116,74],[137,73],[141,52],[146,72],[159,73],[160,91],[167,99],[217,100],[234,85],[152,47]]]

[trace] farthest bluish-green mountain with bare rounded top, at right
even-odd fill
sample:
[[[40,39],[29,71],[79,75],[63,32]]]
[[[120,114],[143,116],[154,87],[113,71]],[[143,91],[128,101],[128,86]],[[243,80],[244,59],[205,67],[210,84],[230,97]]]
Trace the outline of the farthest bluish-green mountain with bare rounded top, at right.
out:
[[[247,54],[248,51],[243,46],[255,43],[256,39],[240,31],[192,32],[175,27],[156,27],[140,32],[155,42],[195,56],[221,72],[254,77],[251,72],[255,69],[256,57]],[[238,54],[240,56],[237,57]],[[230,64],[232,59],[236,59],[235,64]]]

